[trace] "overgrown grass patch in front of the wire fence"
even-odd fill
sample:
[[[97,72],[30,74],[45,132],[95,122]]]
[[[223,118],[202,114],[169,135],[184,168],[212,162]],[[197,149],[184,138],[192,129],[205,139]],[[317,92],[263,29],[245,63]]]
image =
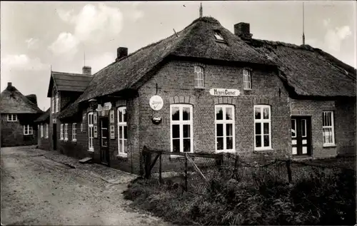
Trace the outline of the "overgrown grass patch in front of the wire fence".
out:
[[[178,225],[354,225],[353,170],[294,166],[294,183],[276,171],[208,170],[197,195],[175,180],[139,179],[124,197],[135,207]],[[284,175],[285,176],[285,175]],[[193,175],[191,176],[193,177]],[[177,180],[176,180],[177,181]],[[200,180],[189,180],[200,183]],[[198,188],[198,187],[197,187]]]

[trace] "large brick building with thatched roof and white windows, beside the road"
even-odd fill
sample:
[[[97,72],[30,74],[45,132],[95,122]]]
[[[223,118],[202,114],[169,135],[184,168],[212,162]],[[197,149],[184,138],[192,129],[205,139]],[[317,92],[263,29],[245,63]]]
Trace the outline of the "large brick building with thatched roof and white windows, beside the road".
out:
[[[246,25],[236,24],[232,34],[203,17],[129,55],[119,47],[114,63],[76,95],[59,91],[52,76],[49,96],[56,90],[65,100],[50,114],[50,128],[57,124],[52,147],[131,173],[140,172],[144,145],[173,152],[163,158],[164,170],[180,161],[175,152],[242,158],[353,153],[354,68],[310,46],[259,46]],[[319,83],[321,69],[328,79]]]

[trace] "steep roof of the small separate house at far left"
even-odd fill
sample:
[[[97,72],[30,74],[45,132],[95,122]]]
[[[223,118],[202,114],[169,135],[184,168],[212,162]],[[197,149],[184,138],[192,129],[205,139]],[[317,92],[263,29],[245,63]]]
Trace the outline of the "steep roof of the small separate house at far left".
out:
[[[0,97],[1,113],[42,113],[41,109],[32,103],[26,96],[18,91],[14,86],[9,85],[1,92]]]

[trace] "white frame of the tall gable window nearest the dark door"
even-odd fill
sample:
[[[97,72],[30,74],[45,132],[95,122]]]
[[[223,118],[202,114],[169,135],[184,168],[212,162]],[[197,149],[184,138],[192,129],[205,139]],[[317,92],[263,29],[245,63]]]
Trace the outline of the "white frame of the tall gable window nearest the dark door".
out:
[[[256,119],[256,108],[260,108],[261,119]],[[263,108],[268,108],[269,118],[263,118]],[[271,150],[271,106],[269,105],[255,105],[253,106],[254,117],[254,150]],[[261,147],[256,147],[256,123],[261,123]],[[264,123],[269,125],[269,146],[264,146]]]

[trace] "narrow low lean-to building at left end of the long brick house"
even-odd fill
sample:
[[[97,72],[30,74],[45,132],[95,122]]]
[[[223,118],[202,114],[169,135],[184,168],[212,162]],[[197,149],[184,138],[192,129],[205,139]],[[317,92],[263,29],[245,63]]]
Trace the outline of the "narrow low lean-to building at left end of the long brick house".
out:
[[[49,112],[50,109],[47,109],[45,113],[39,116],[34,123],[37,124],[38,130],[38,144],[39,148],[43,150],[51,150],[51,136],[49,135]]]

